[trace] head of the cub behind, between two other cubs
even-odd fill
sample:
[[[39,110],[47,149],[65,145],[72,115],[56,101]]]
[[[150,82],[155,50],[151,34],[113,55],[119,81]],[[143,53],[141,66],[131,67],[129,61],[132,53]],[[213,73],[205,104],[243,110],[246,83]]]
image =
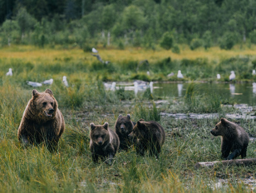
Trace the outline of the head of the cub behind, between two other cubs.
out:
[[[133,130],[133,123],[131,122],[131,115],[127,116],[119,115],[114,125],[116,132],[122,134],[122,136],[128,136]]]

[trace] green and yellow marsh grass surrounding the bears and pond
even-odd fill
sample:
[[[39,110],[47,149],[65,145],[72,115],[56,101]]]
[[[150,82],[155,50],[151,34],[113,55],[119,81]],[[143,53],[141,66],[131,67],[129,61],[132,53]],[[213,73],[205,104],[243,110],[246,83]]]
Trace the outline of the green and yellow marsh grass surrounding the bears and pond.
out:
[[[111,64],[102,66],[91,53],[78,49],[40,50],[20,46],[1,50],[0,188],[3,192],[250,192],[254,188],[246,180],[255,178],[255,166],[194,168],[198,161],[221,160],[220,138],[211,136],[209,131],[227,113],[241,113],[233,107],[235,102],[209,93],[198,94],[193,84],[187,87],[186,96],[180,98],[160,98],[150,92],[135,97],[124,89],[106,91],[103,86],[103,82],[113,80],[176,80],[176,76],[166,75],[171,71],[177,73],[178,69],[184,72],[181,81],[215,81],[217,72],[222,71],[227,74],[220,80],[224,82],[233,69],[237,71],[237,81],[252,82],[253,56],[234,54],[223,59],[213,57],[215,54],[209,51],[206,53],[209,57],[195,59],[195,55],[201,54],[195,51],[193,57],[179,59],[180,55],[167,51],[100,51],[101,57],[111,60]],[[183,51],[185,56],[190,52]],[[143,67],[136,71],[145,55],[151,56],[150,76]],[[5,76],[8,68],[13,68],[12,77]],[[69,87],[62,84],[63,75],[67,76]],[[56,153],[43,145],[23,149],[17,139],[17,128],[32,96],[32,87],[26,81],[42,82],[49,78],[54,79],[52,85],[37,89],[52,89],[65,117],[66,131]],[[224,106],[229,101],[231,106]],[[252,108],[250,113],[254,111]],[[219,113],[219,117],[176,119],[160,116],[163,112]],[[128,113],[135,122],[140,118],[156,120],[164,127],[166,140],[160,158],[137,156],[131,147],[127,152],[118,152],[111,166],[93,163],[89,124],[109,122],[114,129],[118,115]],[[255,120],[233,121],[256,137]],[[255,157],[255,147],[255,141],[251,140],[247,158]]]

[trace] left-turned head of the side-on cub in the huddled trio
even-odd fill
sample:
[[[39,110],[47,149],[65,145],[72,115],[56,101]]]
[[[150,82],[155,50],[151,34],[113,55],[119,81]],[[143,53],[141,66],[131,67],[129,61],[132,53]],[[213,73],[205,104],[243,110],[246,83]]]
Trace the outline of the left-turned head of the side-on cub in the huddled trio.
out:
[[[145,136],[147,136],[147,126],[144,122],[144,120],[141,118],[136,125],[134,125],[132,132],[128,135],[129,138],[138,138],[143,139]]]

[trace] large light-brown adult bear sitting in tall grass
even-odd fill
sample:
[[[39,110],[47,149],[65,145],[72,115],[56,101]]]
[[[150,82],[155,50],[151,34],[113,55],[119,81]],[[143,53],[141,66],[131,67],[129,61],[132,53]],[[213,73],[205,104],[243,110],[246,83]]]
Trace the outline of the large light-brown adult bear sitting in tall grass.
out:
[[[64,118],[52,91],[39,93],[34,89],[19,125],[19,141],[25,146],[46,143],[50,151],[56,151],[64,130]]]

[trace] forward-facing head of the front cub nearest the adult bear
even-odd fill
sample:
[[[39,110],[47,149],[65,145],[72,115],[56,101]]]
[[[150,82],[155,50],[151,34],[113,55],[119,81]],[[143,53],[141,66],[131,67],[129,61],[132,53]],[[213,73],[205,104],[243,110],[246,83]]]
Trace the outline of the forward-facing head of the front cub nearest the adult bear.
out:
[[[93,143],[101,146],[109,142],[109,124],[107,122],[105,122],[103,125],[94,125],[94,123],[91,123],[90,126],[90,136]]]

